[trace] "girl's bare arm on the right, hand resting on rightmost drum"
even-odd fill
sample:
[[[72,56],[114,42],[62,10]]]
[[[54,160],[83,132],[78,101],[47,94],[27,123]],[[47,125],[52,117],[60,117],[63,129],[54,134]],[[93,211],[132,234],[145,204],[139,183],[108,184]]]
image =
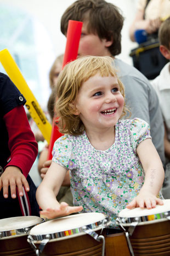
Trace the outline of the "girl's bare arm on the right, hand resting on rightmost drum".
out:
[[[151,139],[146,139],[138,145],[137,154],[144,168],[145,181],[139,194],[128,204],[127,208],[144,208],[145,206],[148,209],[155,208],[156,204],[163,204],[157,195],[162,187],[165,171]]]

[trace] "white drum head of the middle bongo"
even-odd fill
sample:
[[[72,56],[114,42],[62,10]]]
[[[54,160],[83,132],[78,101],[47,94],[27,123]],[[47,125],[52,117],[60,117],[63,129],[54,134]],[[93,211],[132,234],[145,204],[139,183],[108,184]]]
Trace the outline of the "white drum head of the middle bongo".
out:
[[[44,222],[30,230],[30,235],[48,235],[95,224],[106,217],[101,213],[75,214]]]

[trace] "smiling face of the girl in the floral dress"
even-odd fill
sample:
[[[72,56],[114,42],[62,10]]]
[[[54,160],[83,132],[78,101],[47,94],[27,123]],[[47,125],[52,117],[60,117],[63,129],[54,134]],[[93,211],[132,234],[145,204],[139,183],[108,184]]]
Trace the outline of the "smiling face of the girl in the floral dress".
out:
[[[75,115],[80,115],[86,130],[103,130],[115,126],[122,115],[123,105],[117,78],[96,74],[81,86],[75,102]]]

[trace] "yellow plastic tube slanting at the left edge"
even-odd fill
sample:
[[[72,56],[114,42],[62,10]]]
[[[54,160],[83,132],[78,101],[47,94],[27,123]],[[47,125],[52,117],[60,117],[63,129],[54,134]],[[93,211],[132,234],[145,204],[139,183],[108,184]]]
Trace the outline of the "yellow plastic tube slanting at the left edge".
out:
[[[52,125],[48,122],[42,108],[39,106],[35,96],[22,76],[20,69],[7,49],[0,51],[0,62],[2,63],[2,66],[7,72],[9,78],[13,81],[21,94],[24,95],[26,99],[26,107],[29,110],[31,117],[36,122],[44,139],[46,139],[49,144]]]

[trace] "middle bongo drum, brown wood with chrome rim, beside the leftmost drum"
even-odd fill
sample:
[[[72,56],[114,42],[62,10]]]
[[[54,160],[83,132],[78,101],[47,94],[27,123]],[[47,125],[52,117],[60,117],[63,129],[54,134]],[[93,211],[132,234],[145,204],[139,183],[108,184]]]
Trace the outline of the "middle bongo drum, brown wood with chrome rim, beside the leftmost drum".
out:
[[[104,256],[101,235],[109,220],[101,213],[75,214],[33,227],[28,241],[36,255]]]

